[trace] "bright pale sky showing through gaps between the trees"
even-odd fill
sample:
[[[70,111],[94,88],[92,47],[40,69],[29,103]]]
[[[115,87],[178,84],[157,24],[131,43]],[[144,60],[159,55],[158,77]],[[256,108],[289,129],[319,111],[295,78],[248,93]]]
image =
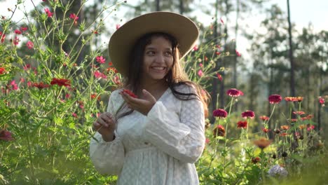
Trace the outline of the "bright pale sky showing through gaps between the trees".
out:
[[[41,2],[41,0],[34,0],[34,2]],[[196,4],[214,4],[215,0],[194,0]],[[243,0],[241,0],[243,1]],[[136,1],[128,0],[128,4],[135,4]],[[8,11],[8,8],[14,9],[16,1],[6,0],[0,2],[0,15],[9,17],[11,16],[11,12]],[[287,0],[271,0],[264,4],[264,7],[269,8],[272,4],[278,4],[282,11],[287,13]],[[289,0],[290,11],[291,11],[291,21],[296,25],[296,29],[301,31],[303,27],[308,27],[309,23],[313,25],[313,29],[315,32],[320,32],[321,30],[328,30],[328,0]],[[22,6],[21,6],[22,8]],[[31,10],[33,8],[31,1],[25,2],[25,8],[27,10]],[[123,13],[123,11],[118,11],[119,13]],[[211,16],[202,15],[201,13],[196,13],[198,15],[198,20],[203,22],[204,25],[210,25],[212,21]],[[214,13],[213,13],[214,14]],[[220,15],[218,15],[221,17]],[[21,11],[15,13],[15,20],[18,21],[22,19],[24,15]],[[118,17],[123,18],[122,22],[126,22],[124,20],[124,15],[118,15]],[[247,25],[250,25],[250,29],[260,30],[260,22],[264,20],[265,16],[263,13],[259,13],[258,11],[252,12],[244,21],[247,22]],[[224,19],[224,17],[223,17]],[[231,20],[235,20],[235,18],[231,18]],[[121,22],[114,22],[114,25],[121,24]],[[240,21],[242,24],[242,21]],[[111,24],[110,24],[111,25]],[[249,30],[247,32],[252,32]],[[243,38],[240,34],[237,36],[238,45],[237,48],[239,52],[242,54],[242,57],[245,59],[249,59],[250,55],[247,54],[247,48],[250,47],[249,41]]]

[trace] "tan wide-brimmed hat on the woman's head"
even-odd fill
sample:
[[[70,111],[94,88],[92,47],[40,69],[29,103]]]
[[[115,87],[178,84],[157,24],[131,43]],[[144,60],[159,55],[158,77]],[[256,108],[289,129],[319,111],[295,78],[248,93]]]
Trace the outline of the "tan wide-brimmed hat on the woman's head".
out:
[[[109,57],[123,76],[128,74],[129,57],[136,41],[153,32],[174,36],[179,43],[181,58],[189,53],[199,36],[198,27],[192,20],[172,12],[146,13],[126,22],[109,40]]]

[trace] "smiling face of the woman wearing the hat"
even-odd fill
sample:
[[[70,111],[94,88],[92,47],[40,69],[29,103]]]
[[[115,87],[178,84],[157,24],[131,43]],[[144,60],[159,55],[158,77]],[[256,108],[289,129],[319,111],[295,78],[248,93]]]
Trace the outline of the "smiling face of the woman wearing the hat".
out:
[[[162,80],[172,68],[172,64],[172,43],[163,36],[153,36],[151,43],[144,49],[143,80]]]

